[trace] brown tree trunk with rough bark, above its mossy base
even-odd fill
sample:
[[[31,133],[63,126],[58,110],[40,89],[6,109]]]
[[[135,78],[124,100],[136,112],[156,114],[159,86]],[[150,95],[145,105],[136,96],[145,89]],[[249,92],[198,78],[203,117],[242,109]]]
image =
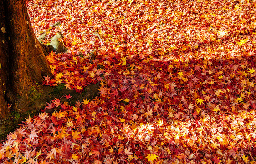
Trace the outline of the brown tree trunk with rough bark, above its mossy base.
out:
[[[24,112],[39,99],[43,76],[51,70],[36,39],[25,0],[0,0],[0,117]]]

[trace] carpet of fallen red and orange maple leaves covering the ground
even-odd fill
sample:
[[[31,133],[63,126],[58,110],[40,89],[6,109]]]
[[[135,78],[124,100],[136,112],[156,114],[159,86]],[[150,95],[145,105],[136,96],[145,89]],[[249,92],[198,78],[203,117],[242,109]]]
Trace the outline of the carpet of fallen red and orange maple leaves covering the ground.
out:
[[[5,164],[254,164],[255,0],[27,0],[37,36],[64,35],[56,98],[0,144]],[[97,51],[90,62],[90,53]]]

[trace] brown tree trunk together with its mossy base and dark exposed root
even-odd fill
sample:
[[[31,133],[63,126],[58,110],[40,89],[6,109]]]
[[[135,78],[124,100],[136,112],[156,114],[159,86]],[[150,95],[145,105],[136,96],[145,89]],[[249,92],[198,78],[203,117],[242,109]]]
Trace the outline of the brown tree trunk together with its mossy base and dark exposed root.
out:
[[[0,0],[0,139],[53,98],[71,94],[71,100],[78,101],[98,94],[99,84],[88,86],[83,94],[43,86],[43,76],[52,76],[45,57],[51,50],[36,39],[25,0]]]

